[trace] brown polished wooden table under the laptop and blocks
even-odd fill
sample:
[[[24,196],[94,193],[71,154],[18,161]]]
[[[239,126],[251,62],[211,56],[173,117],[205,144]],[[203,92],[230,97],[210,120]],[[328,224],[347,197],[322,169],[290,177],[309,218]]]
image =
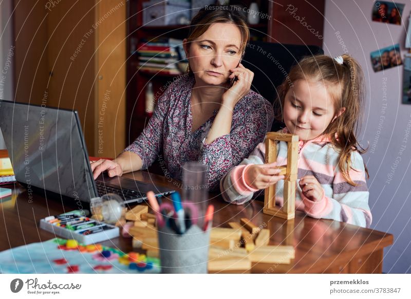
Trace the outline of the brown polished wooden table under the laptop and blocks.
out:
[[[126,177],[178,189],[178,182],[139,171]],[[8,185],[13,188],[13,185]],[[0,251],[12,247],[51,239],[53,234],[39,228],[39,220],[49,215],[78,209],[68,206],[59,198],[45,198],[28,192],[19,184],[13,188],[11,200],[0,203]],[[270,245],[292,245],[295,259],[289,265],[253,264],[252,273],[381,273],[383,249],[393,244],[393,235],[364,229],[343,222],[319,220],[296,212],[295,219],[287,221],[263,214],[263,202],[234,205],[221,196],[210,194],[215,205],[214,227],[228,227],[228,222],[247,217],[255,225],[266,225],[272,234]],[[115,238],[102,242],[125,252],[132,251],[131,240]]]

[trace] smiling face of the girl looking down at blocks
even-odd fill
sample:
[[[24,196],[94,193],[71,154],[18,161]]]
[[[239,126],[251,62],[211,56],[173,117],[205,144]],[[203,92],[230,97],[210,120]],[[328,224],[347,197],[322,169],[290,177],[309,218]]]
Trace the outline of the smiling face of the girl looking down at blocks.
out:
[[[297,80],[286,94],[283,116],[290,133],[306,141],[322,135],[344,111],[345,108],[335,111],[323,83]]]

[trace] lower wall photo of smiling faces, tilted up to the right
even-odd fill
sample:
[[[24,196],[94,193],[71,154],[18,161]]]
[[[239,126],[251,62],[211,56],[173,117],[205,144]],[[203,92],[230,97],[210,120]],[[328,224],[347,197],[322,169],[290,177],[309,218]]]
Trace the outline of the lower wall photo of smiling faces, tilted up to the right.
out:
[[[375,72],[402,65],[400,44],[373,51],[370,57]]]

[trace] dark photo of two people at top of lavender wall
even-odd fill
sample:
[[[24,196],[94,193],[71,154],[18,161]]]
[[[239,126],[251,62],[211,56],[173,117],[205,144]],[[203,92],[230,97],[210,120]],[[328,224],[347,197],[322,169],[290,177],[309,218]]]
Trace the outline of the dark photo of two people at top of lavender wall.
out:
[[[404,4],[376,1],[372,6],[372,21],[401,25]]]

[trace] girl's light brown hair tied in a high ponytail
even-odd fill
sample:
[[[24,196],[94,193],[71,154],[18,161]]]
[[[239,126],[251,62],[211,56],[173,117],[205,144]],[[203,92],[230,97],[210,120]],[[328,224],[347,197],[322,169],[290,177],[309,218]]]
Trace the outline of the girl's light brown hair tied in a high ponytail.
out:
[[[302,59],[294,65],[289,73],[289,80],[277,88],[278,98],[276,104],[284,107],[285,96],[297,80],[322,82],[334,102],[336,113],[345,107],[344,113],[335,118],[324,131],[329,136],[332,144],[340,149],[339,167],[343,177],[351,185],[355,183],[349,177],[351,167],[351,152],[358,151],[363,154],[366,150],[357,141],[356,134],[360,130],[358,119],[364,108],[364,75],[361,66],[350,55],[342,55],[343,63],[326,55],[314,55]],[[282,109],[277,107],[276,119],[283,121]],[[365,166],[365,165],[364,165]],[[365,171],[368,175],[367,168]]]

